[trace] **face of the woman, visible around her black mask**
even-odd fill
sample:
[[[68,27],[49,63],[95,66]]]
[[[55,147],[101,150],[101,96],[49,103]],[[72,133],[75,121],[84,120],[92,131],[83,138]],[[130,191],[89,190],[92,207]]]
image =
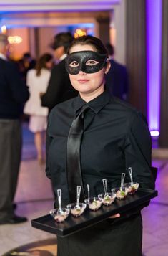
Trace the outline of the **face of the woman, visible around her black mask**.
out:
[[[94,47],[89,44],[81,45],[77,44],[74,47],[71,47],[69,53],[81,52],[81,51],[93,51],[96,52]],[[86,65],[92,66],[97,64],[96,60],[87,60]],[[76,67],[77,62],[71,62],[72,67]],[[103,67],[102,70],[94,73],[85,73],[84,71],[79,71],[76,75],[69,74],[71,85],[74,89],[78,90],[81,98],[86,100],[92,100],[101,94],[104,91],[104,73],[109,71],[110,64],[107,63],[106,67]]]

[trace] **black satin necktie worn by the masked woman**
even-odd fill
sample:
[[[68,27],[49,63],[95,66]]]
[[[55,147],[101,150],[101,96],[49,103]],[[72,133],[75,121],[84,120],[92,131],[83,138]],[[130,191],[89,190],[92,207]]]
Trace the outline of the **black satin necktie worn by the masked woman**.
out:
[[[69,186],[69,199],[76,202],[76,186],[81,186],[81,201],[84,201],[84,186],[81,176],[80,147],[84,132],[84,113],[89,109],[87,105],[81,108],[81,112],[73,120],[69,130],[66,154],[66,174]]]

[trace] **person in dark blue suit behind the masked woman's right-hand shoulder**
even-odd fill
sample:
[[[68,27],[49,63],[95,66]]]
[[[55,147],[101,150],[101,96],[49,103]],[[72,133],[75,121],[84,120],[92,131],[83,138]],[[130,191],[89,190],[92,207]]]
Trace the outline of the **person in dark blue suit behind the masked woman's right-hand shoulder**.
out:
[[[111,63],[111,68],[106,75],[107,89],[111,95],[127,100],[129,90],[127,68],[114,60],[114,47],[112,44],[107,43],[106,48],[109,53],[109,62]]]

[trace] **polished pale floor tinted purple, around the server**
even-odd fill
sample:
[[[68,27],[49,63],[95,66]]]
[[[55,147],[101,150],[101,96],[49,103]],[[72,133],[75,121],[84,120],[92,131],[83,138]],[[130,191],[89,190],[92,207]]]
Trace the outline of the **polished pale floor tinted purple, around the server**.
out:
[[[29,221],[24,224],[0,225],[0,255],[31,242],[56,239],[54,234],[31,227],[31,219],[48,214],[49,209],[53,208],[53,194],[51,184],[45,176],[45,166],[39,165],[36,161],[33,135],[27,131],[25,124],[23,125],[23,135],[23,156],[15,202],[18,206],[16,214],[28,217]],[[168,158],[167,156],[162,158],[160,151],[159,158],[156,152],[153,153],[153,156],[153,166],[159,168],[156,184],[159,196],[152,199],[149,207],[142,210],[143,254],[144,256],[167,256]],[[136,255],[132,253],[131,256]]]

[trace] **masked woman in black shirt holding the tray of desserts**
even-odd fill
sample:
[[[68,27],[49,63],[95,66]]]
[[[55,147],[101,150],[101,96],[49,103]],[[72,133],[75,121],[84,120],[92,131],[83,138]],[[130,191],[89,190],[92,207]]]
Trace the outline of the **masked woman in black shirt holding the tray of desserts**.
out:
[[[46,175],[55,192],[62,189],[64,204],[70,202],[69,159],[66,159],[69,129],[84,105],[89,106],[84,113],[80,148],[84,194],[87,194],[87,184],[92,196],[102,193],[104,178],[108,190],[119,186],[121,174],[127,172],[129,166],[132,166],[134,181],[141,187],[154,189],[152,143],[147,123],[132,106],[111,98],[105,90],[104,75],[110,67],[107,56],[102,42],[92,36],[79,37],[69,47],[66,70],[79,96],[51,111],[46,141]],[[69,237],[58,237],[58,256],[142,255],[142,208],[116,214]]]

